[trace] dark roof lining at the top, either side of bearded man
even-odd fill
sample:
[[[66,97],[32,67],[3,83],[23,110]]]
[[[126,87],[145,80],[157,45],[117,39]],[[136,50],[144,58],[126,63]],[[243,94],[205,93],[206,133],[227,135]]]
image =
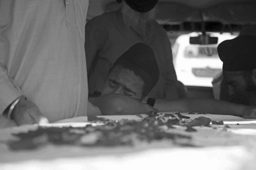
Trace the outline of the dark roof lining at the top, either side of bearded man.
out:
[[[116,0],[90,0],[88,19],[120,7]],[[256,24],[256,0],[159,0],[156,19],[161,24],[218,21]]]

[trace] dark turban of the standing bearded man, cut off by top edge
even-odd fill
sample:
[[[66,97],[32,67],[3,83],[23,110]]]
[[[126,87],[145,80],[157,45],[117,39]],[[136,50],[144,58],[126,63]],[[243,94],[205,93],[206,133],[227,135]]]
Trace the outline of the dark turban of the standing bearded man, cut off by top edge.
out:
[[[148,12],[155,7],[158,0],[124,0],[129,7],[137,12]]]

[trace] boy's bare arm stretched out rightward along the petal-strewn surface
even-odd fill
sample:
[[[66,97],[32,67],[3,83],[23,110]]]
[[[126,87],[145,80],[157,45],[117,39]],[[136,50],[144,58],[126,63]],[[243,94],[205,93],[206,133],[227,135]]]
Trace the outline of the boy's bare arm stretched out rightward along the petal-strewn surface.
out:
[[[230,103],[222,100],[206,98],[187,98],[179,100],[156,99],[155,108],[160,112],[207,112],[209,114],[222,114],[256,118],[256,107]],[[249,115],[249,116],[248,116]]]

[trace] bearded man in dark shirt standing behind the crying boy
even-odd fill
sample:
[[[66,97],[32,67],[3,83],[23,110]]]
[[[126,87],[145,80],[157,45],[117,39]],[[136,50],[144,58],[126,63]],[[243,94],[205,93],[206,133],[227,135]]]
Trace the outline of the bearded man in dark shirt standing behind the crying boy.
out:
[[[154,20],[158,0],[125,0],[118,11],[91,19],[85,27],[89,92],[102,91],[110,68],[133,44],[150,46],[159,66],[159,80],[151,98],[177,99],[180,83],[173,66],[172,49],[165,30]],[[147,59],[144,61],[147,63]],[[183,95],[184,96],[184,95]]]

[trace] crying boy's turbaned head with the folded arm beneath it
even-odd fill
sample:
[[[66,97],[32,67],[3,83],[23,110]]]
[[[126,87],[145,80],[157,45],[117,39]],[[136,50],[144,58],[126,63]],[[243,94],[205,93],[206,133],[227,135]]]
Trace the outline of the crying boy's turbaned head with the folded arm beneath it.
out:
[[[155,99],[148,99],[148,95],[158,79],[159,68],[153,50],[147,44],[137,43],[114,62],[102,92],[89,93],[89,100],[103,115],[157,111],[151,107]]]

